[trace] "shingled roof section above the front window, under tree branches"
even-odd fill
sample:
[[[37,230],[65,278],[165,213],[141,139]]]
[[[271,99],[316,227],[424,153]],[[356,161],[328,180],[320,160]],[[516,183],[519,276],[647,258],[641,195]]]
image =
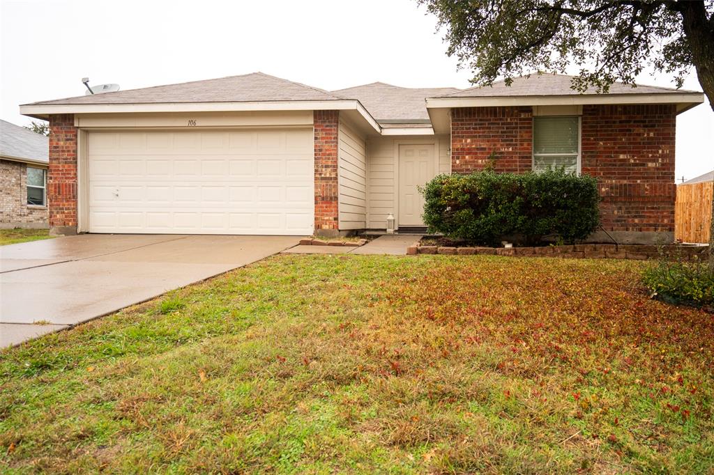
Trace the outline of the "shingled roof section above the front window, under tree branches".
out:
[[[571,88],[575,76],[564,74],[533,73],[530,77],[521,76],[513,78],[511,86],[506,86],[506,81],[498,81],[493,86],[477,86],[463,89],[456,93],[443,94],[432,97],[501,97],[501,96],[573,96],[579,92]],[[691,93],[698,91],[685,91],[683,89],[663,88],[660,86],[637,86],[633,88],[628,84],[614,83],[610,86],[608,94],[657,94],[657,93]],[[585,91],[586,95],[596,94],[594,88]]]

